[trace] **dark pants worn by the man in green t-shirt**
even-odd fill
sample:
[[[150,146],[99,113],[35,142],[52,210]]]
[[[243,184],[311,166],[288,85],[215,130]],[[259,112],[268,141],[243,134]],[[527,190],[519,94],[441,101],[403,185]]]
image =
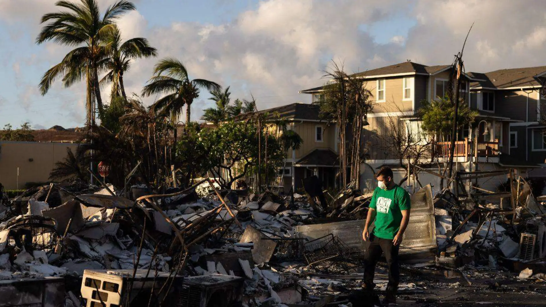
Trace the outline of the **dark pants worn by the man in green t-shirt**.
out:
[[[400,280],[400,267],[398,265],[398,249],[400,245],[393,245],[393,240],[377,238],[370,234],[370,240],[366,242],[367,249],[364,253],[364,280],[368,285],[373,284],[375,267],[381,253],[385,255],[389,265],[389,283],[387,289],[396,292]]]

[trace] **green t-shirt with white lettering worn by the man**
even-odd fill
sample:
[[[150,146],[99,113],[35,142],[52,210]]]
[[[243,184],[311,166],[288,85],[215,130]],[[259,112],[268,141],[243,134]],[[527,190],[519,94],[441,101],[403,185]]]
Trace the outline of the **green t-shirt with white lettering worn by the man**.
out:
[[[376,187],[370,201],[370,208],[376,210],[373,234],[382,239],[394,239],[400,230],[402,210],[411,208],[410,194],[399,185],[390,190]]]

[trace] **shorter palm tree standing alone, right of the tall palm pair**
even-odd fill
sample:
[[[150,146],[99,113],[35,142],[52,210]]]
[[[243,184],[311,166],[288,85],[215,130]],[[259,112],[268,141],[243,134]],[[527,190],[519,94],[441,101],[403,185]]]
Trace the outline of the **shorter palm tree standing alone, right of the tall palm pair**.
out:
[[[175,58],[168,57],[159,61],[153,68],[153,74],[143,88],[143,95],[164,94],[154,105],[175,117],[182,113],[182,107],[186,105],[186,125],[190,122],[191,105],[199,97],[199,88],[205,88],[209,92],[222,88],[209,80],[190,80],[184,64]]]

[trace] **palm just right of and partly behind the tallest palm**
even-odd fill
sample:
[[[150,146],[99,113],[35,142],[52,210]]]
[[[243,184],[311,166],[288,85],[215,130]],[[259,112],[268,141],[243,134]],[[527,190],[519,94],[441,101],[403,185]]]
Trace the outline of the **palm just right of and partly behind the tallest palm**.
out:
[[[157,49],[151,47],[148,40],[141,37],[122,42],[121,33],[117,27],[114,27],[110,33],[105,48],[108,52],[108,60],[105,64],[109,71],[100,82],[107,80],[112,82],[112,98],[120,96],[121,92],[121,96],[127,99],[123,85],[123,73],[129,70],[130,61],[133,58],[157,56]]]

